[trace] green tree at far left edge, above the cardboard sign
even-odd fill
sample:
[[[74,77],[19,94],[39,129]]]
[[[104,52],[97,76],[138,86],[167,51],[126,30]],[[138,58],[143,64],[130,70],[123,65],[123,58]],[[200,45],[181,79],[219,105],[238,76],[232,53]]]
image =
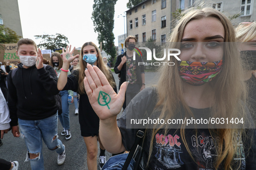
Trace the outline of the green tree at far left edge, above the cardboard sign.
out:
[[[20,38],[12,29],[0,25],[0,44],[17,43]]]

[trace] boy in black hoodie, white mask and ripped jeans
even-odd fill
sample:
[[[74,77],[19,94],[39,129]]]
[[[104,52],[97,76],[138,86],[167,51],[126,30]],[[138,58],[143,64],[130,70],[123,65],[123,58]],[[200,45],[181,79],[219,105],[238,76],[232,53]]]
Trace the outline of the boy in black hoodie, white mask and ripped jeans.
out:
[[[21,63],[7,77],[13,136],[24,138],[28,149],[26,161],[30,161],[32,170],[44,169],[42,139],[50,150],[58,153],[61,165],[65,161],[65,146],[57,138],[56,73],[51,66],[43,66],[41,50],[37,52],[31,39],[19,40],[16,52]]]

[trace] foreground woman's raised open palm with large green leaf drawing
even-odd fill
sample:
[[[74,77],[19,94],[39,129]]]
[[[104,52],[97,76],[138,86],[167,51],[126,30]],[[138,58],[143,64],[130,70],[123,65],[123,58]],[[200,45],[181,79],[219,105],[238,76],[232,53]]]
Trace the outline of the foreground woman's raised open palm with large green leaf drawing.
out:
[[[126,82],[121,85],[117,94],[97,66],[93,67],[91,64],[87,64],[87,69],[84,72],[86,75],[84,88],[90,104],[100,120],[106,120],[120,113],[125,98]]]

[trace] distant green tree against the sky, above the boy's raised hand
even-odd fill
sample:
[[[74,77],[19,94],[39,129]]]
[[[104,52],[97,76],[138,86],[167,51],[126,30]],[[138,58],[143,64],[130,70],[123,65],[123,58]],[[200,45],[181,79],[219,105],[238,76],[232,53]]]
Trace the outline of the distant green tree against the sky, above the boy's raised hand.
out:
[[[69,44],[68,38],[65,35],[35,35],[36,39],[41,39],[40,43],[37,45],[39,48],[44,48],[45,50],[54,50],[62,47],[67,47]]]

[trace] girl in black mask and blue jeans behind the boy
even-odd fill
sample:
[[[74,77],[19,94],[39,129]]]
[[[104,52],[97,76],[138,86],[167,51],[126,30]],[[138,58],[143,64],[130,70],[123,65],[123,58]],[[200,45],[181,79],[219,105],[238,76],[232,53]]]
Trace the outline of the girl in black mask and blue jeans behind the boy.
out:
[[[58,52],[52,53],[50,66],[52,66],[53,69],[57,72],[57,78],[61,73],[62,65],[63,65],[63,60],[62,60],[61,54],[59,54]],[[70,71],[68,71],[68,75],[69,74],[70,74]],[[58,118],[63,127],[61,135],[65,136],[65,139],[68,140],[68,139],[71,139],[68,95],[69,94],[71,95],[72,97],[71,102],[73,103],[73,100],[74,100],[73,91],[64,90],[64,91],[60,91],[59,94],[62,97],[62,114],[58,115]]]

